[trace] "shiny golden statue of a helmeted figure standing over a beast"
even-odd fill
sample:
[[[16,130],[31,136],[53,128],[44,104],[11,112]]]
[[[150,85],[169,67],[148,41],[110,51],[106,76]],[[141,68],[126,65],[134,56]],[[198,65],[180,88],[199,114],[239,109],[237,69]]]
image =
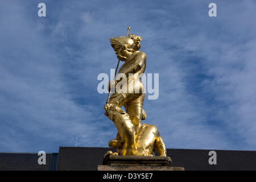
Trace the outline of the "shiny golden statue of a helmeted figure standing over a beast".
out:
[[[108,151],[106,155],[133,155],[152,156],[152,151],[156,150],[160,156],[166,156],[166,147],[159,131],[155,125],[142,125],[142,120],[146,119],[143,110],[144,85],[140,80],[140,75],[146,68],[146,54],[139,51],[141,48],[141,36],[129,34],[110,39],[111,46],[119,61],[124,61],[118,74],[126,78],[127,88],[125,91],[115,92],[110,97],[111,87],[116,89],[118,82],[109,82],[109,97],[104,106],[105,115],[113,121],[118,130],[117,137],[109,141],[109,147],[117,148],[117,152]],[[118,68],[117,65],[117,68]],[[117,69],[115,70],[116,75]],[[112,84],[113,83],[113,84]],[[125,111],[120,107],[124,106]]]

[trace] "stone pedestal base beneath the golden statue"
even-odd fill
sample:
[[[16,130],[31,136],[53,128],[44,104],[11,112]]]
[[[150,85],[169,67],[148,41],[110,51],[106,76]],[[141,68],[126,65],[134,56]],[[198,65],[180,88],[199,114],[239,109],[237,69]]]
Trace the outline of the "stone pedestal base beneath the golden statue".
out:
[[[165,156],[106,156],[98,171],[184,171],[184,167],[170,167],[171,158]]]

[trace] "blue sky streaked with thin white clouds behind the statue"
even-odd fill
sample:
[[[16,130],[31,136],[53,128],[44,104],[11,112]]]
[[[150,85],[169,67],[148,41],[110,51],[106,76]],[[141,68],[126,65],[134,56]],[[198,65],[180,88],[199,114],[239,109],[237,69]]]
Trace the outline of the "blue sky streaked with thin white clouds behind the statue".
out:
[[[128,26],[143,38],[146,73],[159,73],[144,122],[167,148],[256,150],[255,9],[253,0],[1,1],[0,152],[57,152],[76,137],[108,147],[117,130],[97,76],[115,68],[109,38]]]

